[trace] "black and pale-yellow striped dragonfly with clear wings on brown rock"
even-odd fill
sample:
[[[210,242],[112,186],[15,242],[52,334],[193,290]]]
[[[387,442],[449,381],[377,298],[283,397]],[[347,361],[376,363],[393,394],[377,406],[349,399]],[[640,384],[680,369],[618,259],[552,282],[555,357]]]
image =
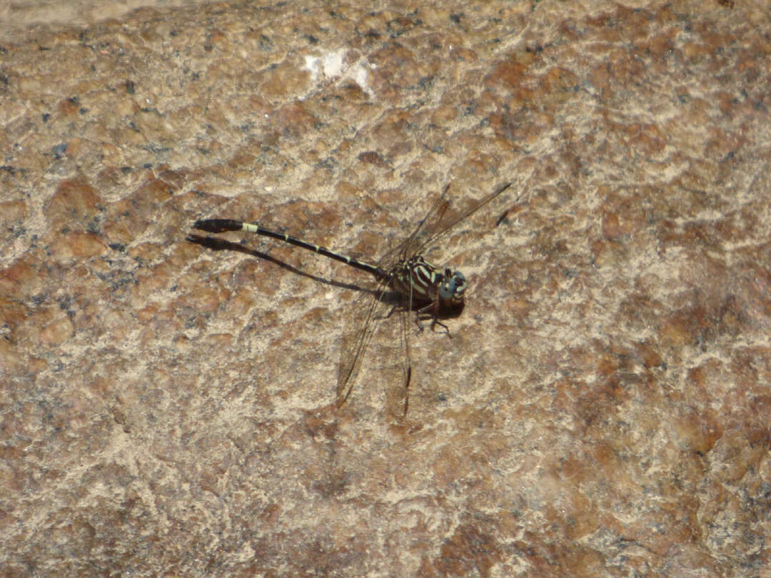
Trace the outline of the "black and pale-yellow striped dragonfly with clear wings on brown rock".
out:
[[[409,355],[409,323],[407,312],[415,312],[415,322],[419,331],[423,331],[423,321],[431,320],[430,328],[442,327],[448,337],[449,328],[440,319],[454,317],[463,311],[465,304],[466,277],[460,271],[449,267],[437,266],[426,260],[425,255],[433,249],[443,237],[473,213],[485,207],[511,187],[512,183],[503,183],[486,197],[472,203],[460,214],[453,213],[449,202],[449,184],[444,187],[426,216],[419,221],[412,234],[406,237],[375,263],[359,260],[338,253],[320,245],[309,243],[299,237],[263,227],[259,223],[248,223],[234,219],[203,219],[193,223],[193,228],[206,233],[225,233],[228,231],[246,231],[264,237],[281,240],[284,243],[310,250],[329,259],[340,261],[350,267],[365,271],[378,281],[375,291],[365,291],[355,300],[352,314],[348,316],[343,331],[343,344],[338,366],[337,399],[338,408],[348,401],[355,383],[355,377],[362,366],[365,351],[377,331],[379,321],[392,317],[399,311],[400,341],[402,349],[402,374],[404,387],[403,415],[406,417],[409,407],[409,385],[412,380],[412,364]],[[524,193],[523,193],[524,194]],[[515,200],[522,197],[520,194]],[[505,213],[504,213],[505,215]],[[496,225],[503,220],[500,217]],[[210,237],[207,237],[209,239]],[[195,240],[195,239],[191,239]],[[388,299],[389,291],[396,291],[397,299]],[[390,311],[385,313],[389,309]]]

